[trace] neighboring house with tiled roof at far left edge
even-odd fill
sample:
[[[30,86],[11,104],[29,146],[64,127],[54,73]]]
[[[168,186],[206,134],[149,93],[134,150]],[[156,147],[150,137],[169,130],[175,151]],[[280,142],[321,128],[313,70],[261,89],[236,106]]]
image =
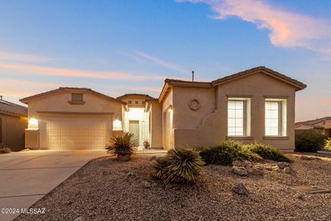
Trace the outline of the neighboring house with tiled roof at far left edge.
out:
[[[28,127],[28,108],[5,101],[0,96],[0,147],[12,151],[24,148],[24,129]]]

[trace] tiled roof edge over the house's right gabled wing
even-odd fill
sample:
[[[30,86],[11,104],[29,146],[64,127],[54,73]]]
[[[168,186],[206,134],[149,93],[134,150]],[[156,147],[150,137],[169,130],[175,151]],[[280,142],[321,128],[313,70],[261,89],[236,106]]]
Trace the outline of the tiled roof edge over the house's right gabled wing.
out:
[[[168,86],[188,86],[188,87],[200,87],[200,88],[208,88],[212,86],[217,86],[219,84],[227,83],[228,81],[232,81],[234,79],[239,79],[241,77],[246,77],[255,73],[263,73],[265,75],[269,75],[270,77],[274,77],[276,79],[279,79],[281,81],[284,81],[287,84],[291,84],[296,88],[296,90],[302,90],[306,87],[305,84],[303,84],[300,81],[297,81],[296,79],[292,79],[291,77],[285,76],[281,73],[278,73],[274,70],[271,70],[270,68],[265,68],[264,66],[259,66],[256,68],[251,68],[248,70],[244,70],[242,72],[236,73],[234,75],[228,75],[226,77],[219,78],[217,80],[211,81],[211,82],[199,82],[199,81],[183,81],[179,79],[165,79],[165,84],[162,88],[159,101],[161,102],[165,95],[168,94],[168,91],[170,88]]]

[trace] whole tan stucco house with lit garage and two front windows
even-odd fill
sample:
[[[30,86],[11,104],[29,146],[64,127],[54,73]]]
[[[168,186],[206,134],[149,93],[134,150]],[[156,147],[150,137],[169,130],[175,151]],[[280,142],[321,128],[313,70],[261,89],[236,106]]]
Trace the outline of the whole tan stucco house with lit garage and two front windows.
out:
[[[225,139],[294,150],[295,93],[305,84],[265,67],[212,82],[165,79],[158,99],[114,99],[89,88],[59,88],[28,104],[29,148],[104,148],[130,131],[152,148],[210,146]]]

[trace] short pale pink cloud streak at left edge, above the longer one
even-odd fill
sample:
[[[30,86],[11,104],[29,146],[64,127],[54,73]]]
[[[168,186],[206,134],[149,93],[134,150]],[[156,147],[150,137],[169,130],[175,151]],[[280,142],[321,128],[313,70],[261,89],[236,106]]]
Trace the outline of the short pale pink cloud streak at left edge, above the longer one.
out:
[[[37,55],[22,54],[16,52],[0,51],[0,61],[23,61],[32,63],[42,63],[48,61],[56,61],[58,59],[51,57],[41,57]]]

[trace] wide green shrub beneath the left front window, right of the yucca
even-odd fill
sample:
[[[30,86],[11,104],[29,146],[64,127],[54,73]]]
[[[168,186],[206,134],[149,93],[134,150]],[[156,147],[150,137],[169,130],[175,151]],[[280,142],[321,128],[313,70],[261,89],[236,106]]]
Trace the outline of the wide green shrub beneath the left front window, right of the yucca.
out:
[[[234,140],[225,140],[221,144],[198,149],[201,150],[200,155],[206,164],[230,166],[234,160],[254,159],[253,154],[244,148],[241,142]]]

